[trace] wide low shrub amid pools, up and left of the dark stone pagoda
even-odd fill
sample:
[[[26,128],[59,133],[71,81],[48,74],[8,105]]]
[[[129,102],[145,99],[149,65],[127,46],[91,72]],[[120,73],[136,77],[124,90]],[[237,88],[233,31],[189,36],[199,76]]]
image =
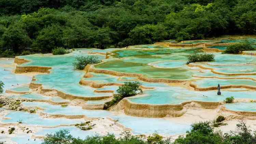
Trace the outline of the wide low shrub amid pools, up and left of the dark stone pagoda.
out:
[[[207,53],[197,54],[197,53],[195,53],[195,54],[189,55],[187,64],[191,63],[191,62],[214,61],[214,57],[215,57],[215,55],[213,55],[213,54],[207,54]]]

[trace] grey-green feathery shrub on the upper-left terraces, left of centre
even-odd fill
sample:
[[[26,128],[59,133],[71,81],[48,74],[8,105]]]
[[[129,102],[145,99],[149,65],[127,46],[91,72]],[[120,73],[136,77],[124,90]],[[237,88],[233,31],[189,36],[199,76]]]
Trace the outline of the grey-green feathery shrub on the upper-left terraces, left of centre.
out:
[[[89,55],[89,56],[81,56],[76,57],[73,62],[73,67],[77,70],[83,70],[87,64],[100,63],[98,56]]]

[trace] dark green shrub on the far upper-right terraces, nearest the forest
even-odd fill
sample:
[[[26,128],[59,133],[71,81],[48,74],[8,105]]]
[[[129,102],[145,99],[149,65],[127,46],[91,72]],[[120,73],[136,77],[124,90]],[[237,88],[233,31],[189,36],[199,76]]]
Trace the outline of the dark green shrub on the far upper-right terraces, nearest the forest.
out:
[[[255,48],[252,47],[250,43],[237,43],[229,45],[224,51],[225,54],[240,54],[243,51],[254,51]]]

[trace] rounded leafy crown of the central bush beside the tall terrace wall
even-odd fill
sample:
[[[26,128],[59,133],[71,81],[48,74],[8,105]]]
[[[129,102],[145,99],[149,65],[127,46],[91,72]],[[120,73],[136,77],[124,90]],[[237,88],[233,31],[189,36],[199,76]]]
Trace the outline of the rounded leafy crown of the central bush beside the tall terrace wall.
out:
[[[125,82],[122,86],[119,86],[116,90],[118,95],[122,98],[135,96],[139,93],[142,93],[140,88],[142,84],[140,82]]]

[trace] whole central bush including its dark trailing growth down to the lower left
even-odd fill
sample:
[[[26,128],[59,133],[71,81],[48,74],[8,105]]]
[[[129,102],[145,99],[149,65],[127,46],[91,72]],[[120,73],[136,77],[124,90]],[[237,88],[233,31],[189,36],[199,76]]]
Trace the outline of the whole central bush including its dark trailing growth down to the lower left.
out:
[[[114,95],[114,98],[111,101],[104,103],[103,109],[109,109],[111,106],[115,105],[125,97],[135,96],[138,93],[142,93],[143,91],[140,86],[140,82],[125,82],[116,90],[118,95]]]

